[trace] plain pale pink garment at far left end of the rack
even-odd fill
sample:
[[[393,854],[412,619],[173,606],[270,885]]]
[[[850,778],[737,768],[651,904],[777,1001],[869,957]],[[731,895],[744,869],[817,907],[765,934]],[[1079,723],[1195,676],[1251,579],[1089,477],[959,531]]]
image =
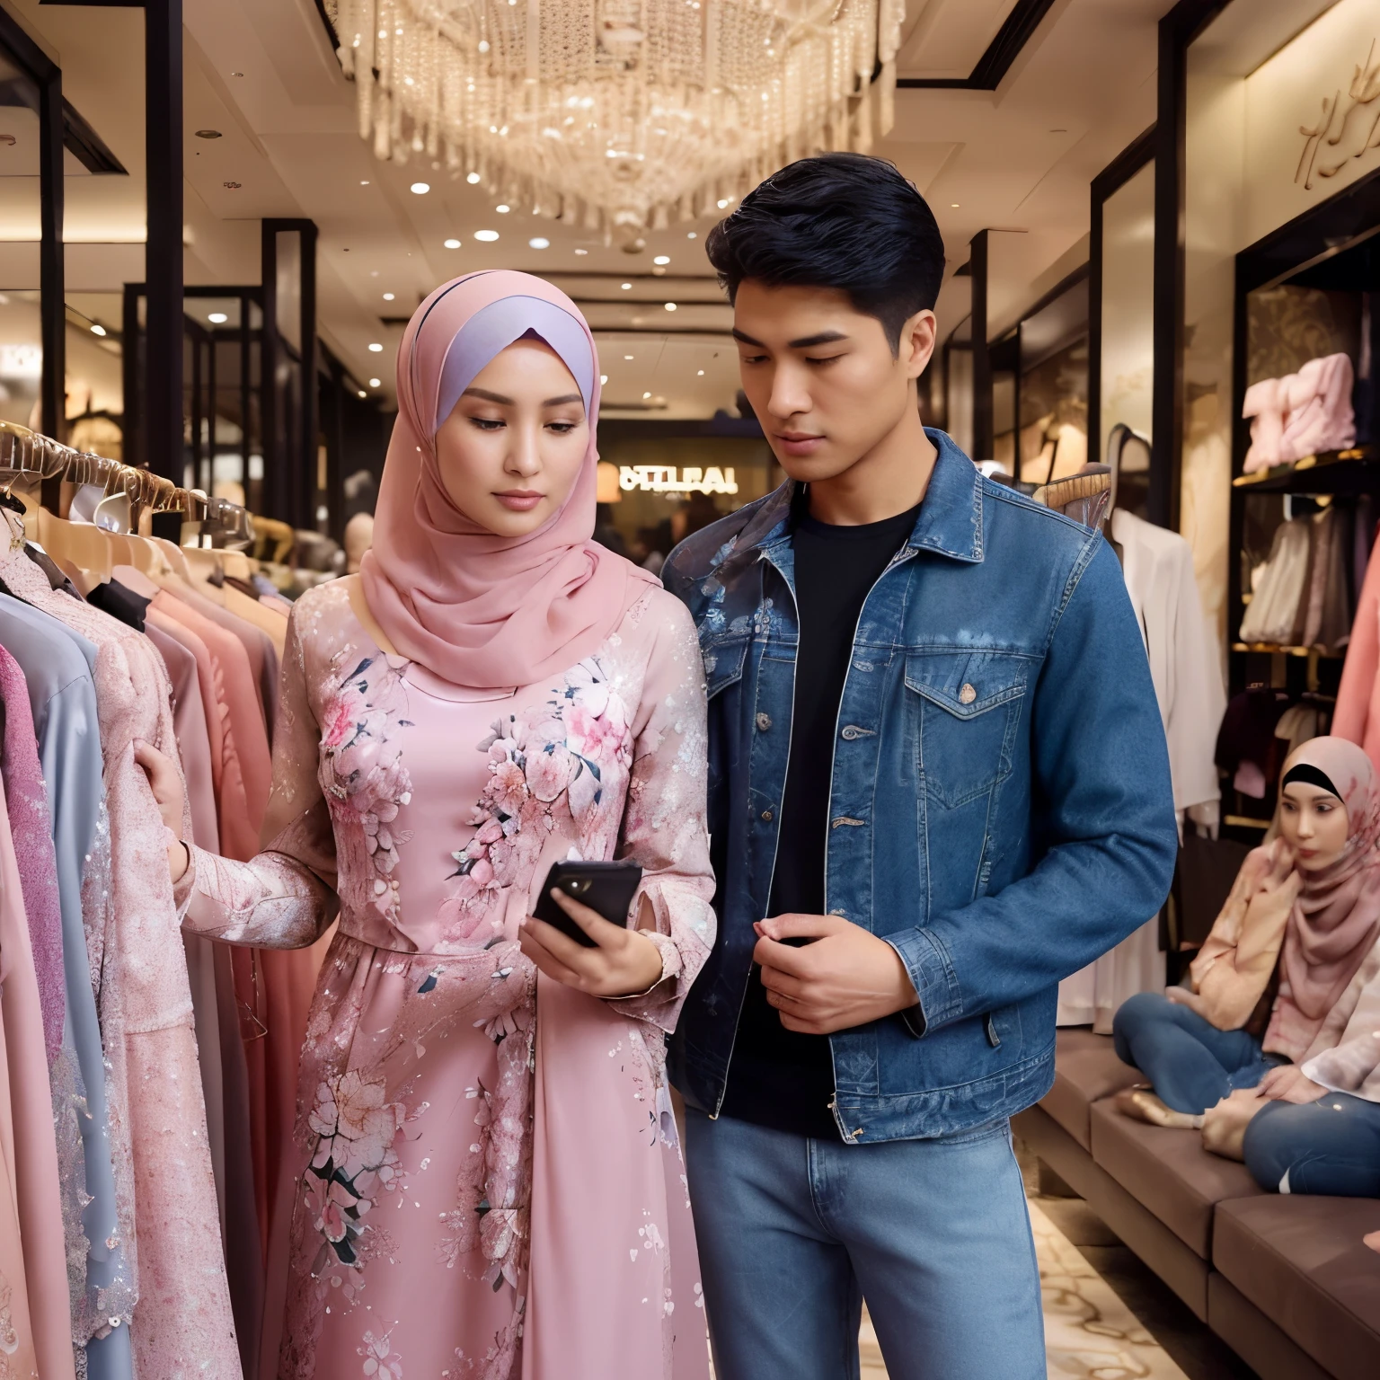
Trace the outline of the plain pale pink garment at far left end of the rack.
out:
[[[19,558],[25,560],[23,556]],[[28,562],[26,562],[28,563]],[[37,566],[30,570],[47,588]],[[8,581],[7,581],[8,582]],[[28,705],[28,696],[15,696]],[[8,705],[7,705],[8,707]],[[52,1134],[52,1090],[43,1046],[39,983],[23,916],[19,864],[0,796],[0,962],[4,966],[4,1045],[14,1126],[14,1169],[19,1198],[23,1275],[33,1347],[43,1380],[76,1380],[72,1362],[72,1307]]]

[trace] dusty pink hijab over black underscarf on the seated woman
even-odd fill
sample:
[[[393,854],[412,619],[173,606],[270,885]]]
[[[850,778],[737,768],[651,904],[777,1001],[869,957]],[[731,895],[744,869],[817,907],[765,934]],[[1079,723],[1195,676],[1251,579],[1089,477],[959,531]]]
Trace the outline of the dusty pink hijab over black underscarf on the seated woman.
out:
[[[1322,771],[1347,807],[1347,850],[1303,886],[1285,929],[1281,1000],[1272,1032],[1307,1047],[1380,936],[1380,785],[1366,753],[1346,738],[1314,738],[1285,763]],[[1283,840],[1281,840],[1283,846]],[[1293,1007],[1293,1010],[1290,1010]],[[1271,1046],[1267,1036],[1265,1046]]]

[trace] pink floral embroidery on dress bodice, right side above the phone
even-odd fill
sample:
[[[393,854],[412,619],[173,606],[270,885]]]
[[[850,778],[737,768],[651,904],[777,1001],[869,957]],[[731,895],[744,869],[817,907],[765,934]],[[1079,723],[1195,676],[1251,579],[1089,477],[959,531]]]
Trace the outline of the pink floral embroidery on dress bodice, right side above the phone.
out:
[[[458,880],[440,911],[451,940],[475,938],[486,922],[491,933],[501,930],[494,901],[505,887],[530,887],[564,813],[575,825],[573,854],[609,856],[632,763],[632,726],[599,658],[588,657],[566,672],[552,698],[495,720],[479,751],[489,753],[489,781],[469,821],[473,838],[451,854]]]

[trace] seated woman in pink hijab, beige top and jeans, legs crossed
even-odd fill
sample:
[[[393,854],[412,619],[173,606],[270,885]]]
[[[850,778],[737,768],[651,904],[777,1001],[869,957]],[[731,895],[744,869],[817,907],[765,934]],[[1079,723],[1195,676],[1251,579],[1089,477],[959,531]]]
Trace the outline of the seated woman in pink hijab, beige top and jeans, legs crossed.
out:
[[[1265,1103],[1318,1093],[1303,1065],[1332,1050],[1380,963],[1380,788],[1366,753],[1314,738],[1285,762],[1279,835],[1242,864],[1192,987],[1130,998],[1112,1023],[1118,1057],[1154,1093],[1118,1097],[1161,1126],[1205,1125],[1231,1103],[1238,1132]],[[1238,1096],[1259,1089],[1254,1096]],[[1236,1114],[1239,1108],[1239,1115]],[[1232,1154],[1223,1132],[1208,1147]],[[1236,1155],[1239,1158],[1239,1152]]]

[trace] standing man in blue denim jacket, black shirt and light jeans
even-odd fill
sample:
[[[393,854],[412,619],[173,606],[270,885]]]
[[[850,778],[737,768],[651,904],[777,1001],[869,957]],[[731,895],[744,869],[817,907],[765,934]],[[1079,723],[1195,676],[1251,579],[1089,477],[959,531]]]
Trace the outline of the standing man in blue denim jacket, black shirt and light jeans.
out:
[[[719,1380],[1045,1374],[1009,1118],[1061,977],[1163,903],[1176,832],[1103,537],[922,426],[944,272],[876,159],[709,236],[776,493],[664,578],[700,627],[719,936],[671,1043]]]

